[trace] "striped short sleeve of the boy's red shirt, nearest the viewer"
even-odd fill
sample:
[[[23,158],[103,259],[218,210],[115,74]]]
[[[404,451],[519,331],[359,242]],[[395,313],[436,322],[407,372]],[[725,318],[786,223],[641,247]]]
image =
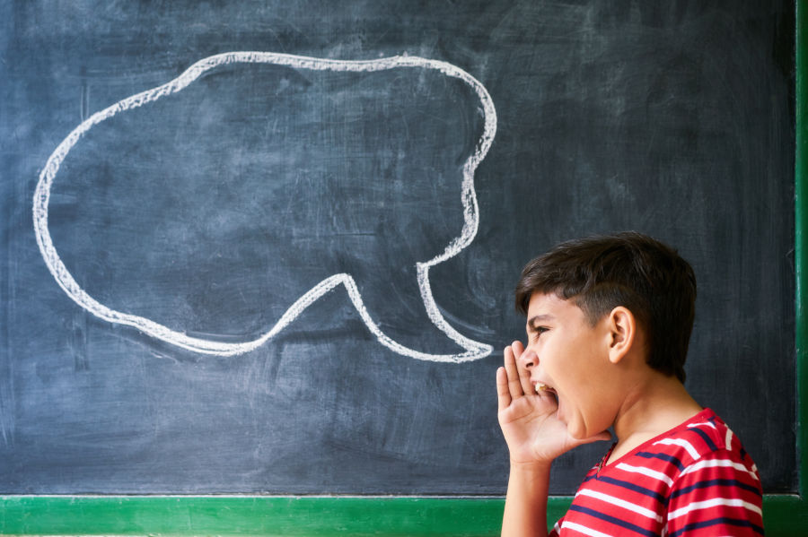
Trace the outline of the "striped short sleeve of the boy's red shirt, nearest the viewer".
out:
[[[667,535],[763,535],[762,499],[757,469],[732,451],[716,450],[691,463],[673,484]]]

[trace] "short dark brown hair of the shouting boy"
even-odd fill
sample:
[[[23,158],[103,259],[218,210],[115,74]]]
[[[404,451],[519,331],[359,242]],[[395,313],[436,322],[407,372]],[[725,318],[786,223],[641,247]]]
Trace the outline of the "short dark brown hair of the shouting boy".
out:
[[[571,300],[591,325],[628,308],[646,336],[647,364],[684,382],[696,276],[671,247],[636,232],[561,243],[524,267],[516,286],[523,315],[534,293]]]

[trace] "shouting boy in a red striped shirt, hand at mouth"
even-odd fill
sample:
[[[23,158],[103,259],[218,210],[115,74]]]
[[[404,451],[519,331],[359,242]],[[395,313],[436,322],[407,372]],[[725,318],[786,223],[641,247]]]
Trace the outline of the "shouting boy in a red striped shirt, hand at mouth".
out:
[[[527,345],[496,372],[511,458],[503,535],[547,535],[550,463],[617,441],[550,535],[760,535],[760,477],[725,423],[687,393],[696,279],[639,233],[558,245],[525,266]]]

